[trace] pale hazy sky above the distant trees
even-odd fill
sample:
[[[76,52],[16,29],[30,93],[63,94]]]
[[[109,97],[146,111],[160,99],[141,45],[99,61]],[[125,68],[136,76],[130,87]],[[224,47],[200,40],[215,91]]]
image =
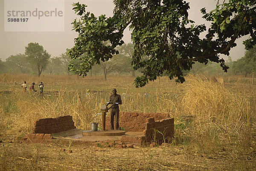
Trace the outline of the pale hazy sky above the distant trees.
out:
[[[106,17],[113,16],[113,1],[112,0],[64,0],[64,32],[5,32],[4,31],[4,0],[0,0],[0,59],[5,61],[11,55],[25,52],[25,46],[30,42],[37,42],[49,52],[52,57],[59,56],[66,52],[67,48],[72,48],[74,38],[77,33],[72,30],[70,23],[77,17],[72,10],[72,3],[86,4],[87,11],[92,12],[95,16],[106,14]],[[207,12],[215,9],[215,0],[187,0],[190,3],[189,19],[194,20],[196,24],[203,24],[202,14],[200,9],[206,7]],[[206,23],[209,26],[209,23]],[[125,30],[123,41],[131,42],[131,35],[128,29]],[[230,56],[233,61],[244,56],[244,45],[242,41],[245,38],[240,38],[236,41],[237,46],[230,51]],[[221,58],[225,58],[221,55]]]

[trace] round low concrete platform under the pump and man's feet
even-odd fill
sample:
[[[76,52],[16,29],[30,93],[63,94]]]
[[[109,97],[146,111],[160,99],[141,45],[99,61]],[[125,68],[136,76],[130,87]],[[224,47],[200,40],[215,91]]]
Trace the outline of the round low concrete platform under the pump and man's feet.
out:
[[[122,136],[125,135],[124,130],[84,130],[82,136]]]

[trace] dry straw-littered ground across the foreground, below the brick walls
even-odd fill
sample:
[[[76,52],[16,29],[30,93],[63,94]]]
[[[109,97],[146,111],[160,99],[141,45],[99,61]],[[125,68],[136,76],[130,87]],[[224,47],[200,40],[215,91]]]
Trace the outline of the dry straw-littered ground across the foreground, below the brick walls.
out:
[[[0,170],[10,171],[253,171],[256,151],[226,147],[215,154],[199,154],[183,146],[28,144],[0,135]]]

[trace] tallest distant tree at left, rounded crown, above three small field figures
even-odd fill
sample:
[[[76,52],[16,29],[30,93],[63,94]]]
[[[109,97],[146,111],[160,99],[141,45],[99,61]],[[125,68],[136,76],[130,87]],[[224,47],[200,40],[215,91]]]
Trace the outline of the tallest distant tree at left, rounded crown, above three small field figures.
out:
[[[29,43],[25,49],[25,55],[29,60],[29,64],[38,71],[38,76],[40,76],[42,71],[46,69],[51,55],[38,43]]]

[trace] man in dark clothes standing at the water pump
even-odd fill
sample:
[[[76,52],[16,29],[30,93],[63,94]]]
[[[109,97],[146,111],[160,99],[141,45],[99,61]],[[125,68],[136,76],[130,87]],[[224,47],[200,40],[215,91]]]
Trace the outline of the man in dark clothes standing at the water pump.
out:
[[[122,104],[122,99],[119,94],[116,94],[116,89],[113,88],[112,93],[110,95],[110,100],[108,104],[113,104],[110,108],[110,128],[114,129],[114,116],[116,119],[116,130],[119,130],[119,104]],[[118,104],[116,104],[118,103]]]

